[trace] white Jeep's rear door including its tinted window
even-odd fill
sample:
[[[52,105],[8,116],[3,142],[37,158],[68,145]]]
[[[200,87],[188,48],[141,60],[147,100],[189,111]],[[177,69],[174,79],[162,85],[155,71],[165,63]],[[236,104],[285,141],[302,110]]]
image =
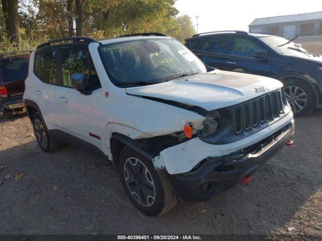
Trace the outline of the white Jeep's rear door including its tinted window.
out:
[[[34,61],[33,100],[40,108],[48,130],[64,131],[58,110],[56,52],[37,52]]]

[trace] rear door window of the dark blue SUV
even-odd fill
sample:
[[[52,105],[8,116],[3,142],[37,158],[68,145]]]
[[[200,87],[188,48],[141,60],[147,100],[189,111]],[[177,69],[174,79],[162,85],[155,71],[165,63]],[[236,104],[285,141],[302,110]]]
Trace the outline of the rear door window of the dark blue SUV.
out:
[[[203,52],[226,54],[229,37],[227,35],[218,35],[211,38],[203,39],[198,50]]]

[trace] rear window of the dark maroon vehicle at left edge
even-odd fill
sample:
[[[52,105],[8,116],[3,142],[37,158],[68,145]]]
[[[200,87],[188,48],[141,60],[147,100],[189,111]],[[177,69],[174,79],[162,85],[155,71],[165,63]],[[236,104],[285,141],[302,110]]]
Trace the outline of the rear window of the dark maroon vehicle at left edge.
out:
[[[26,79],[28,76],[29,56],[3,60],[4,81]]]

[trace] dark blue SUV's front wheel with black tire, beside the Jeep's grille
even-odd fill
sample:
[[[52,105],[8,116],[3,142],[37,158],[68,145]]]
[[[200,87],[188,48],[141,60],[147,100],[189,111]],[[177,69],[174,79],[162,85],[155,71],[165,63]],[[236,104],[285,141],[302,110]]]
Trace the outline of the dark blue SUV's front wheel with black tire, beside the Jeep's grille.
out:
[[[295,95],[289,96],[290,93],[295,91],[295,87],[297,87],[297,91],[296,91],[297,96],[298,95],[302,95],[302,96],[297,98],[295,97]],[[284,92],[286,94],[287,101],[292,107],[294,117],[306,116],[315,108],[316,98],[315,98],[314,90],[304,80],[288,79],[284,81]],[[305,98],[303,94],[306,96],[305,103],[301,99],[301,98]],[[301,109],[300,109],[300,106],[302,106]]]

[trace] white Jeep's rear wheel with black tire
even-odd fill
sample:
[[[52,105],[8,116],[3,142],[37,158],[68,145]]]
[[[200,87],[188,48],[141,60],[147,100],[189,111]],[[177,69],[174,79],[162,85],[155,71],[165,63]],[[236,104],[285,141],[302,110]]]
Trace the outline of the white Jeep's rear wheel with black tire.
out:
[[[34,113],[32,116],[32,125],[34,127],[37,142],[44,152],[54,152],[61,147],[61,142],[54,139],[48,133],[47,128],[38,112]],[[40,130],[40,133],[38,132],[38,129]],[[39,134],[41,137],[39,136]]]

